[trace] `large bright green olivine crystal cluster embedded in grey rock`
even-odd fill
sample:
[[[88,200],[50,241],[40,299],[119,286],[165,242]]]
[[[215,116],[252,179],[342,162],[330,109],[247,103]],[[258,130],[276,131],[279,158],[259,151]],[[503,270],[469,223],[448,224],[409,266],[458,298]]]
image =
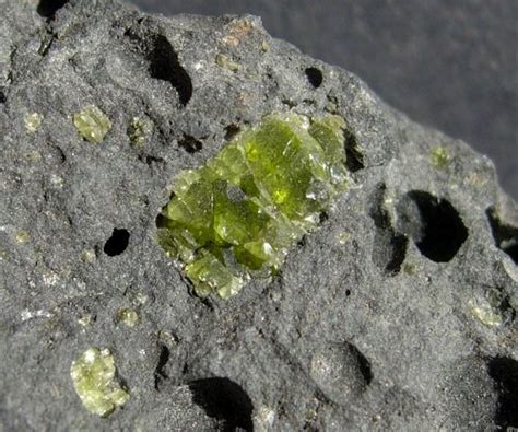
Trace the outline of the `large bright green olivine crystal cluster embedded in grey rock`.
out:
[[[227,299],[280,269],[345,187],[344,121],[273,114],[198,170],[179,173],[160,219],[195,292]]]

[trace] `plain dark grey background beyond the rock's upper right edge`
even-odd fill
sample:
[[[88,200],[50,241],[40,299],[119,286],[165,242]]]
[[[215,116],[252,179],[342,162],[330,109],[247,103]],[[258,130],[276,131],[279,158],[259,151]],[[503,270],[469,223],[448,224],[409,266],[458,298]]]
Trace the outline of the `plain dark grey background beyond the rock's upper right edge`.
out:
[[[517,0],[132,0],[164,14],[244,14],[363,78],[416,121],[495,161],[518,198]]]

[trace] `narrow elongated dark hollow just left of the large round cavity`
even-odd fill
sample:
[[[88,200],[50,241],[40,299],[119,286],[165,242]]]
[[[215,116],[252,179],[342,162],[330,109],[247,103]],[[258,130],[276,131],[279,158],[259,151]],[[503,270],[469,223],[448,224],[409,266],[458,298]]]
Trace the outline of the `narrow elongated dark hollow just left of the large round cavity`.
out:
[[[369,214],[376,226],[374,236],[373,262],[387,276],[401,270],[407,256],[408,238],[395,232],[387,210],[384,208],[386,186],[377,186],[373,196]]]

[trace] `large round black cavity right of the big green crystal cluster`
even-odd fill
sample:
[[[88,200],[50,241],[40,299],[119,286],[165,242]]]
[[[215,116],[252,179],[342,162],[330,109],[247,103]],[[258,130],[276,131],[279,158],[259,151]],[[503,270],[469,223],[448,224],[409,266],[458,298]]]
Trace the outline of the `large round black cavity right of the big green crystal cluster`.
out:
[[[398,205],[398,227],[426,258],[448,262],[468,238],[459,212],[446,199],[412,190]]]

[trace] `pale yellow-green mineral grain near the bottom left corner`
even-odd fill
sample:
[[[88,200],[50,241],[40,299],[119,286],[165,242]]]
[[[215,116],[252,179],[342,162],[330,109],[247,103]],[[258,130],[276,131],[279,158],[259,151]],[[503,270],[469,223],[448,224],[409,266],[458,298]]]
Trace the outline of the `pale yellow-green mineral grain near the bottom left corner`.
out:
[[[70,376],[83,406],[94,415],[109,416],[129,399],[116,378],[115,360],[107,349],[89,348],[72,362]]]

